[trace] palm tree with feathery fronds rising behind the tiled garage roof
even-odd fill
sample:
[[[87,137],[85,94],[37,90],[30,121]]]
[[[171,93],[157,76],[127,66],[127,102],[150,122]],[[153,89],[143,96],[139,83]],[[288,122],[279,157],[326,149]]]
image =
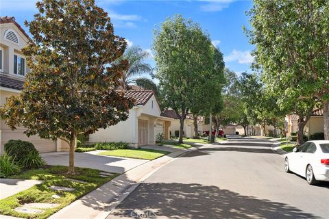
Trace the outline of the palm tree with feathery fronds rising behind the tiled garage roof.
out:
[[[152,72],[152,67],[144,62],[149,56],[150,54],[141,47],[130,47],[125,51],[121,59],[128,60],[130,67],[121,76],[123,90],[129,90],[129,84],[135,81],[136,76]]]

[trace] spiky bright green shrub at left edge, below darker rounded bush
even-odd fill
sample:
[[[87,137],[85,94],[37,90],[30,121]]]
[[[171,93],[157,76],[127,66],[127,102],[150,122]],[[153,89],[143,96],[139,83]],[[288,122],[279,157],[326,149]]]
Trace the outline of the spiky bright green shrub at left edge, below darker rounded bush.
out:
[[[0,156],[0,178],[19,174],[19,172],[21,172],[21,166],[14,162],[14,157],[6,153]]]

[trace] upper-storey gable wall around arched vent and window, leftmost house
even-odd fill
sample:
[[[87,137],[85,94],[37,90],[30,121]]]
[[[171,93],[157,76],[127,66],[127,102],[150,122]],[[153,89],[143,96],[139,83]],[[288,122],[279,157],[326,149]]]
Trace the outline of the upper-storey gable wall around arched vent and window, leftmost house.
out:
[[[12,29],[19,38],[19,44],[5,40],[5,31]],[[3,73],[14,74],[14,54],[21,55],[21,49],[27,44],[27,38],[21,34],[21,31],[14,25],[14,23],[5,23],[0,26],[0,49],[3,50]],[[29,72],[27,62],[25,60],[25,74]],[[21,75],[15,75],[17,77],[23,77]]]

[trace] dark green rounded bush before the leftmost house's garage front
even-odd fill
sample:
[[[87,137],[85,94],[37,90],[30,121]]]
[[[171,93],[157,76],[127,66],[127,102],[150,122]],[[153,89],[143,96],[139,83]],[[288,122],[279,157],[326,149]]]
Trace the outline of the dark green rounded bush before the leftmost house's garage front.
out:
[[[25,142],[22,140],[9,140],[7,143],[5,143],[5,153],[14,157],[15,162],[19,162],[32,151],[38,153],[31,142]]]

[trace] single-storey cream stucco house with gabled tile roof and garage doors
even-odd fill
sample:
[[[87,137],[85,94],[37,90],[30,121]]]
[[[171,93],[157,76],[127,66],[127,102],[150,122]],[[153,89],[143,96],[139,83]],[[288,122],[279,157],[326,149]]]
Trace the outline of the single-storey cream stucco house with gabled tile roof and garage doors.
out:
[[[160,106],[153,90],[127,90],[125,96],[135,99],[129,118],[117,125],[99,129],[89,136],[89,142],[127,142],[130,146],[155,144],[158,133],[169,139],[172,118],[161,116]]]

